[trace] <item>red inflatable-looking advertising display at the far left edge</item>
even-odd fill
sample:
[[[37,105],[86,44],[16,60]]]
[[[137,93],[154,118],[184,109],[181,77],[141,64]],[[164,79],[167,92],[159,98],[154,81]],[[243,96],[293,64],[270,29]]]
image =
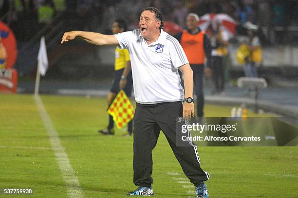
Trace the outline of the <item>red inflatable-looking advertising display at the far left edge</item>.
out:
[[[0,92],[17,92],[18,72],[13,69],[17,55],[17,41],[13,32],[0,22]]]

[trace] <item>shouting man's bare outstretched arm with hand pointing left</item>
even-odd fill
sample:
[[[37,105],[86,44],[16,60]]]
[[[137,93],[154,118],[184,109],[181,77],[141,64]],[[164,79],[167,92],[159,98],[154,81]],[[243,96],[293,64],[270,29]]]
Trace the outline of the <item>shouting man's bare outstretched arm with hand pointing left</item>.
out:
[[[79,37],[94,45],[118,45],[118,40],[113,35],[103,35],[95,32],[72,31],[64,33],[61,44]]]

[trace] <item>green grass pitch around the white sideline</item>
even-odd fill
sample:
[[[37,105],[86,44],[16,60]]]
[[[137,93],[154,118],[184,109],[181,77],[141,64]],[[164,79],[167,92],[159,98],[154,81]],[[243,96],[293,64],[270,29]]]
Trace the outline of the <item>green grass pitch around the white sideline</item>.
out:
[[[104,98],[42,95],[85,198],[126,198],[132,183],[132,137],[97,134],[107,125]],[[231,107],[206,105],[208,117]],[[249,111],[248,116],[255,116]],[[268,116],[268,115],[263,115]],[[270,116],[270,115],[269,115]],[[297,198],[297,147],[198,147],[210,198]],[[161,133],[153,150],[156,198],[187,198],[187,178]],[[179,183],[179,181],[185,183]],[[0,197],[66,198],[67,186],[32,95],[0,94],[0,188],[34,194]]]

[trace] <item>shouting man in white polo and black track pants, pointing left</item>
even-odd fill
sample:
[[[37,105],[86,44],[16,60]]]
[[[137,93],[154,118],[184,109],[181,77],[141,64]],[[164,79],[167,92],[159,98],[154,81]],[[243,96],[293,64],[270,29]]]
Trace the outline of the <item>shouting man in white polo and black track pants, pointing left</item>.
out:
[[[153,195],[152,150],[162,130],[184,173],[195,185],[196,196],[207,198],[204,181],[209,174],[200,166],[196,146],[175,144],[176,118],[194,116],[193,73],[181,45],[162,30],[163,24],[162,13],[149,7],[140,16],[139,30],[117,35],[73,31],[65,33],[61,43],[78,36],[92,44],[119,45],[129,50],[137,102],[133,119],[133,182],[138,188],[128,195]],[[185,76],[185,91],[178,69]]]

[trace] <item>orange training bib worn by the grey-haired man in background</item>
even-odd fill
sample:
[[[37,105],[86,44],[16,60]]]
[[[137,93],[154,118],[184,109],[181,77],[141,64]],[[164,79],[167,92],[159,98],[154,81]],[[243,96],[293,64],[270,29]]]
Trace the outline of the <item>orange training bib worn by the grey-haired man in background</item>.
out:
[[[196,35],[189,34],[186,30],[182,33],[180,44],[190,64],[205,62],[204,35],[203,31]]]

